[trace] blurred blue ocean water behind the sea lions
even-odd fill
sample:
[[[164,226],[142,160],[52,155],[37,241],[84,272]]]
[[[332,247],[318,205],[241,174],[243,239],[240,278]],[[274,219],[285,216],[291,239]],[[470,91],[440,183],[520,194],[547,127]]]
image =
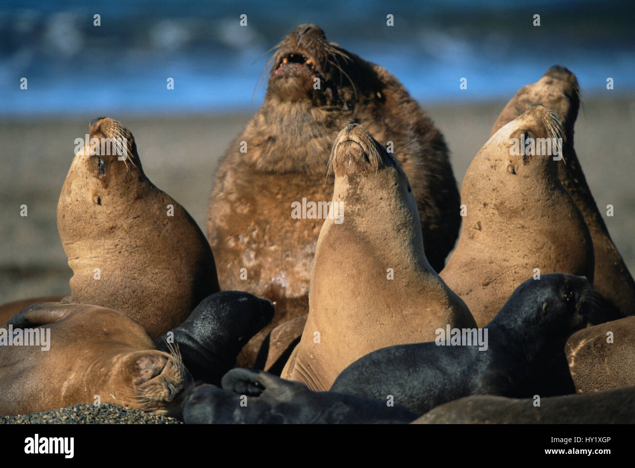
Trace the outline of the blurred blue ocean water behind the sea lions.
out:
[[[633,18],[635,3],[617,1],[4,0],[0,113],[255,109],[267,51],[301,23],[319,25],[428,103],[507,99],[554,64],[575,72],[585,93],[632,94]]]

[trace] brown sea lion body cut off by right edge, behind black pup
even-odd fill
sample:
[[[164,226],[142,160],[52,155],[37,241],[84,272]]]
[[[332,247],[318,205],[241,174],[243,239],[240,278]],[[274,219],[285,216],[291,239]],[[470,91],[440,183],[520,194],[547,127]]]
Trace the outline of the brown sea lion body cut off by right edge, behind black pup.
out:
[[[575,332],[565,353],[578,392],[635,386],[635,317]]]

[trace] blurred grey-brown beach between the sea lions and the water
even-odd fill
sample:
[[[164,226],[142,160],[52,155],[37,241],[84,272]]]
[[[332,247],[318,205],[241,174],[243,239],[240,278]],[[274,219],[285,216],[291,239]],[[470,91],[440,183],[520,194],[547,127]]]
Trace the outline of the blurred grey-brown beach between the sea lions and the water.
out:
[[[613,91],[607,91],[613,93]],[[635,99],[589,96],[575,127],[575,148],[600,212],[629,270],[635,269]],[[511,97],[511,96],[509,96]],[[426,105],[445,135],[457,183],[505,101]],[[108,115],[135,135],[145,173],[182,204],[205,231],[217,160],[251,112],[225,115]],[[97,115],[0,120],[0,301],[69,294],[72,271],[57,231],[57,202],[73,157],[74,140]],[[326,170],[326,168],[325,168]],[[28,216],[20,216],[27,205]]]

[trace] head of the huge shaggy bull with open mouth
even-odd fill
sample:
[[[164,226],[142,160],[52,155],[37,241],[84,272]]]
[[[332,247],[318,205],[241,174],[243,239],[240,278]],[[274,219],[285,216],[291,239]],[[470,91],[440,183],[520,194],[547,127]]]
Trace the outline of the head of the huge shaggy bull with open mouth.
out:
[[[368,63],[326,40],[314,24],[302,24],[270,59],[267,98],[351,109],[373,88]],[[268,62],[268,63],[269,63]]]

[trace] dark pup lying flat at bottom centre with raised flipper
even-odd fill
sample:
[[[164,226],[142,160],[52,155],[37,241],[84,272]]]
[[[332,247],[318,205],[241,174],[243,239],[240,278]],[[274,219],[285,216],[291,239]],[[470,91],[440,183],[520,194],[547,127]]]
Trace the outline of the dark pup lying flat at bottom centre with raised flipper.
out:
[[[196,387],[185,400],[186,424],[398,424],[417,415],[385,401],[331,392],[258,370],[225,374],[222,389]]]

